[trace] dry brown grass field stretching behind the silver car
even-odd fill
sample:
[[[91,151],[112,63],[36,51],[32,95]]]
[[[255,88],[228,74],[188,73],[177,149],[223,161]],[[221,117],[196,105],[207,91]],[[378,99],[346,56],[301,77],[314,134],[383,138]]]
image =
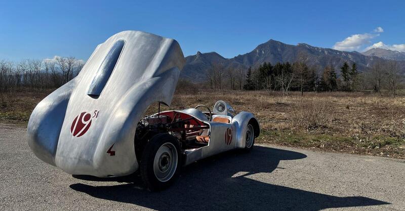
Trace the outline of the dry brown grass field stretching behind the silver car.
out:
[[[36,103],[52,90],[0,93],[0,121],[25,123]],[[191,94],[190,94],[191,93]],[[405,97],[361,92],[279,92],[191,90],[176,92],[170,109],[219,100],[259,119],[257,143],[405,159]],[[169,109],[169,108],[162,108]],[[157,111],[156,105],[147,113]]]

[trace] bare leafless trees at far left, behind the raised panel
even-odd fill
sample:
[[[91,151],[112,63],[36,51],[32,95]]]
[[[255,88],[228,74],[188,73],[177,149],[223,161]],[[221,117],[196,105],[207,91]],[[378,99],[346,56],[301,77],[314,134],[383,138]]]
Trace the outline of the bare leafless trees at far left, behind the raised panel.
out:
[[[0,92],[58,88],[74,78],[83,63],[74,57],[52,60],[0,61]]]

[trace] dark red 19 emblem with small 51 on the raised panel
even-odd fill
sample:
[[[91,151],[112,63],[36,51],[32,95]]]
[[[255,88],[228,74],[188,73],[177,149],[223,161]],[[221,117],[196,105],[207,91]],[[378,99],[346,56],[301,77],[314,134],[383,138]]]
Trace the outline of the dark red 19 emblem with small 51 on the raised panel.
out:
[[[92,125],[92,119],[97,118],[99,111],[94,111],[93,116],[88,112],[82,112],[74,118],[72,125],[70,126],[70,132],[74,137],[80,137],[84,135]]]

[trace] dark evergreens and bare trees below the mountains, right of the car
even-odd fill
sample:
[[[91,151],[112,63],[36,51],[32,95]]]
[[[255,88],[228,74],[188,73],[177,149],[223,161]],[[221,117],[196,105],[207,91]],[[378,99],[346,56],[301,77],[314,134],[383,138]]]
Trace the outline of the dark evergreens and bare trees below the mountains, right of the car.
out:
[[[286,95],[289,91],[303,94],[308,91],[374,90],[382,94],[382,90],[388,90],[395,97],[397,90],[403,86],[403,74],[396,61],[379,61],[371,71],[360,72],[356,63],[343,62],[335,70],[333,65],[323,69],[309,66],[306,60],[305,56],[300,56],[293,63],[272,65],[264,62],[247,70],[213,64],[207,71],[207,80],[212,89],[281,91]]]

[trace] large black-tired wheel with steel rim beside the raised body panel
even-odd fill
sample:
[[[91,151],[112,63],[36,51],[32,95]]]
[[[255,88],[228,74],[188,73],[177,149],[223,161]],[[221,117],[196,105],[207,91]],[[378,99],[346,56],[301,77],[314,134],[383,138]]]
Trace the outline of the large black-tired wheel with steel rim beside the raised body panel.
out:
[[[154,135],[146,144],[140,162],[140,173],[146,187],[151,191],[168,188],[179,176],[180,167],[181,151],[178,140],[167,133]]]

